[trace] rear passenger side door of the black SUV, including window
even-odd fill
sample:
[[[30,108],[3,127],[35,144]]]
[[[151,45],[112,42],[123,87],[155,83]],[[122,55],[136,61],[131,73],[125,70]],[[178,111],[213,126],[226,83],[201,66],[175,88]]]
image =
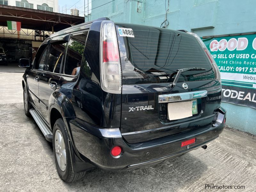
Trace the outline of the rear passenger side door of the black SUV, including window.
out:
[[[65,36],[56,37],[51,40],[47,59],[44,63],[44,71],[40,74],[39,99],[41,113],[46,121],[49,121],[49,107],[54,104],[56,92],[58,92],[60,70],[65,60],[65,49],[67,40]]]

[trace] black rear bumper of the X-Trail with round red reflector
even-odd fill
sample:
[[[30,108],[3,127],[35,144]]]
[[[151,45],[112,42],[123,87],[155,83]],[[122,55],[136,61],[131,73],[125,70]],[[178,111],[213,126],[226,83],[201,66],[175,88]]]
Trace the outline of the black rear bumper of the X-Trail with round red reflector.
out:
[[[224,128],[225,118],[226,111],[220,108],[218,119],[211,127],[136,144],[127,143],[118,128],[102,129],[78,118],[71,120],[69,126],[73,137],[73,147],[75,151],[79,151],[76,155],[85,163],[110,171],[126,171],[162,163],[200,148],[220,135]],[[195,137],[196,143],[189,145],[189,148],[180,147],[182,141]],[[114,146],[120,146],[123,149],[121,157],[111,156],[110,150]],[[76,164],[76,161],[72,161],[72,164]],[[79,165],[81,166],[76,169],[77,172],[85,170],[81,163]]]

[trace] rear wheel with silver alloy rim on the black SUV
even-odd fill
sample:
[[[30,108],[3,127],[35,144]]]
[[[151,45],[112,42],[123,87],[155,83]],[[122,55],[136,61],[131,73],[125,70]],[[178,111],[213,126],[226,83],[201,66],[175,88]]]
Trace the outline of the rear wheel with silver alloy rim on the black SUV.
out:
[[[52,147],[56,168],[63,181],[73,182],[84,177],[85,172],[74,173],[72,170],[68,133],[62,118],[58,119],[53,126]]]

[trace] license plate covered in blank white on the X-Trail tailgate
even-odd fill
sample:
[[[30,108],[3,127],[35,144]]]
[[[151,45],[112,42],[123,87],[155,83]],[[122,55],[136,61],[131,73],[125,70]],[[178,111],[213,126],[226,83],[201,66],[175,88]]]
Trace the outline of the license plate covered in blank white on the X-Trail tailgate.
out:
[[[197,114],[197,100],[168,103],[168,119],[176,120]]]

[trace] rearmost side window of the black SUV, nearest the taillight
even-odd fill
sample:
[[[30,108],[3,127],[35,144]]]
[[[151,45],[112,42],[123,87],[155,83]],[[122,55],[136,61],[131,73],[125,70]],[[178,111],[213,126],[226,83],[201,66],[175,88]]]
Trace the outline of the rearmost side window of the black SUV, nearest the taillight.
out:
[[[87,34],[88,31],[70,36],[70,39],[68,41],[64,74],[77,75],[74,74],[73,70],[80,67],[81,65]]]

